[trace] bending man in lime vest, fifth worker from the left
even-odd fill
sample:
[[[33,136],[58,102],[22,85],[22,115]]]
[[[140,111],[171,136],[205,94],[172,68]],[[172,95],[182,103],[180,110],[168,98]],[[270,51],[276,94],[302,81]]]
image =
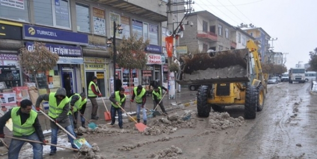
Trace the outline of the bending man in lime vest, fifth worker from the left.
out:
[[[124,88],[119,88],[118,91],[115,91],[115,93],[113,93],[111,95],[111,97],[109,98],[109,100],[111,101],[111,125],[115,124],[116,121],[116,112],[118,112],[118,122],[119,122],[119,128],[123,129],[122,125],[122,110],[120,109],[120,107],[122,109],[124,109],[124,105],[125,105],[125,94],[124,94]],[[120,106],[120,107],[119,107]]]

